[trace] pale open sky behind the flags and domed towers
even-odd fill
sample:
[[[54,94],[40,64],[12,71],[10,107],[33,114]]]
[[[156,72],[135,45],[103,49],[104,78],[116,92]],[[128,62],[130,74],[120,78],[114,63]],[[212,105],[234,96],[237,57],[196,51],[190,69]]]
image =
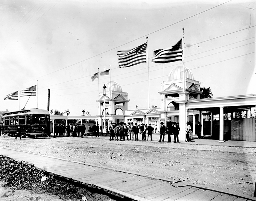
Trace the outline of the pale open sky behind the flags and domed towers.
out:
[[[213,97],[256,95],[255,1],[0,0],[0,110],[82,110],[97,115],[98,93],[110,80],[91,76],[111,67],[128,93],[128,110],[160,107],[162,64],[153,50],[179,41],[184,62]],[[148,37],[148,39],[146,39]],[[117,51],[148,40],[148,63],[119,68]],[[181,61],[163,64],[163,80]],[[38,97],[3,98],[38,83]],[[38,101],[37,101],[38,100]]]

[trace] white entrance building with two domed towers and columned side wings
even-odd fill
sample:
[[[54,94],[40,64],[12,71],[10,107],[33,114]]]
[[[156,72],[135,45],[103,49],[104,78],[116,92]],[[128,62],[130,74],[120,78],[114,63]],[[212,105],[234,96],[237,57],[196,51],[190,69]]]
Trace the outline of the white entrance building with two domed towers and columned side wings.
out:
[[[160,108],[128,110],[128,94],[123,92],[122,87],[117,82],[111,81],[106,85],[105,109],[103,93],[100,93],[100,98],[97,100],[98,115],[51,117],[52,119],[95,119],[103,125],[104,112],[106,112],[107,126],[111,122],[125,122],[127,124],[138,122],[151,123],[157,128],[160,127],[160,122],[167,124],[169,121],[175,121],[179,123],[181,128],[181,141],[185,140],[186,122],[191,122],[193,133],[195,133],[195,125],[200,121],[203,128],[202,133],[207,131],[206,134],[215,139],[218,138],[219,142],[224,142],[226,139],[256,141],[255,118],[225,120],[225,117],[230,117],[235,112],[248,112],[251,107],[255,107],[256,96],[243,95],[200,99],[200,82],[194,79],[193,73],[186,67],[183,80],[182,72],[183,67],[177,66],[169,73],[168,80],[163,81],[162,85],[159,86]],[[205,115],[211,120],[204,121],[209,119],[205,118]],[[218,115],[218,121],[213,121],[213,115]],[[205,126],[203,126],[204,123]]]

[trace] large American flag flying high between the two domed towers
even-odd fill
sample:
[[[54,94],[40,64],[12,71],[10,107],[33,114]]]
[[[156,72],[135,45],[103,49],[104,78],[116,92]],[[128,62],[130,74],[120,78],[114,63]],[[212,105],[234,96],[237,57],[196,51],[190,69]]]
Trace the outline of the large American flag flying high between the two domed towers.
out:
[[[144,43],[136,48],[125,51],[118,51],[119,68],[134,66],[141,63],[146,63],[147,43]]]

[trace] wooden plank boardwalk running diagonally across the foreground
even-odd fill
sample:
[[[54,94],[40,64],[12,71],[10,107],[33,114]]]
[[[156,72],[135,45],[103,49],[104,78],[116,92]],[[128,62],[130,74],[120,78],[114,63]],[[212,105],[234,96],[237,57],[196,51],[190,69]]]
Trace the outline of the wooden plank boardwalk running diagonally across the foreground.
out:
[[[96,186],[125,200],[137,201],[249,201],[253,197],[206,189],[183,182],[164,181],[137,173],[71,162],[38,154],[0,148],[1,155],[32,163],[47,172]],[[175,187],[176,186],[176,187]]]

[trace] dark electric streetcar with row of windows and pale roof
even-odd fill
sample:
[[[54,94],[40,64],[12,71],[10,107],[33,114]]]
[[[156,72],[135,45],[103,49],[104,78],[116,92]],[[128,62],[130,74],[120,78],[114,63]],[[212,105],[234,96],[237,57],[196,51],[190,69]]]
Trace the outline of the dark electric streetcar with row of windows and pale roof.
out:
[[[9,136],[16,135],[19,126],[22,136],[51,137],[52,126],[47,110],[35,108],[4,113],[2,122],[3,133]]]

